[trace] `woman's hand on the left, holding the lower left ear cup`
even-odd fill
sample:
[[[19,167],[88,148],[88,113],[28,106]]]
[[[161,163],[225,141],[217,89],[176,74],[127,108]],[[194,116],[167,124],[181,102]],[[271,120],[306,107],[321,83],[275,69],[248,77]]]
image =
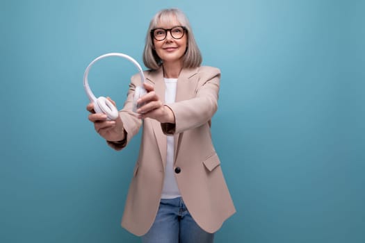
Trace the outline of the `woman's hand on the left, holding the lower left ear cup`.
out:
[[[109,97],[107,99],[115,106],[115,102],[113,100]],[[86,110],[91,112],[88,119],[94,124],[95,131],[104,137],[104,139],[111,142],[117,142],[124,139],[123,122],[120,117],[117,117],[117,119],[113,121],[107,120],[107,116],[105,114],[95,113],[94,103],[92,102],[86,106]]]

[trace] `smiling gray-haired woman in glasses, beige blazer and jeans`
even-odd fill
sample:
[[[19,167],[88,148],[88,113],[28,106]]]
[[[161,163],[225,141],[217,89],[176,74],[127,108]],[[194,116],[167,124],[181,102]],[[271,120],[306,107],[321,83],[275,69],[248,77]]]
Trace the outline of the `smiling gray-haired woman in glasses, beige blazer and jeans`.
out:
[[[200,66],[188,19],[177,9],[161,10],[151,20],[143,61],[147,94],[138,99],[137,113],[138,74],[115,121],[87,106],[95,130],[113,149],[127,146],[143,126],[122,226],[143,242],[213,242],[213,233],[235,212],[211,141],[220,70]]]

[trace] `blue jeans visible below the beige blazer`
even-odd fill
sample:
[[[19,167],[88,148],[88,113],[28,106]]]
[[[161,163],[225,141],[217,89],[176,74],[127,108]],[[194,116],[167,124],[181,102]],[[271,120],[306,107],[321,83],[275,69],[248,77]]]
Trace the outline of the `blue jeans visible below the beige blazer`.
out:
[[[213,243],[214,233],[202,230],[181,197],[161,199],[159,212],[143,243]]]

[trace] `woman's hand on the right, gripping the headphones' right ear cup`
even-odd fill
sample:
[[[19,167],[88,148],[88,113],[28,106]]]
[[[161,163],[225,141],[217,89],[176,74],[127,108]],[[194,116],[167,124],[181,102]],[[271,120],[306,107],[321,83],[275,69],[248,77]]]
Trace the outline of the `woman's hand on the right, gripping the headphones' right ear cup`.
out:
[[[154,92],[154,87],[148,83],[143,83],[143,86],[147,90],[147,94],[137,101],[138,105],[143,104],[137,109],[138,117],[140,119],[149,117],[161,123],[175,123],[174,112],[162,103],[159,96]]]

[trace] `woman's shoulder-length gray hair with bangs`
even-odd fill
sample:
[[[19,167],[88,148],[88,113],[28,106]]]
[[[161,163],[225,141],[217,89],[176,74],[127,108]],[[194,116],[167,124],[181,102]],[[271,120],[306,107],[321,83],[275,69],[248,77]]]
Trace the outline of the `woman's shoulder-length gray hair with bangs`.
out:
[[[181,24],[181,26],[185,26],[186,35],[188,35],[188,42],[186,47],[186,52],[183,57],[183,67],[199,67],[202,64],[202,54],[200,53],[199,47],[197,47],[197,43],[195,42],[195,38],[193,35],[193,30],[190,26],[188,18],[181,10],[177,8],[169,8],[163,9],[154,15],[149,22],[149,28],[147,30],[146,40],[145,40],[145,50],[143,51],[143,63],[149,69],[159,69],[162,65],[162,60],[157,55],[154,50],[154,43],[152,40],[151,31],[154,28],[158,27],[158,24],[169,23],[171,21],[171,17],[176,17],[177,21]]]

